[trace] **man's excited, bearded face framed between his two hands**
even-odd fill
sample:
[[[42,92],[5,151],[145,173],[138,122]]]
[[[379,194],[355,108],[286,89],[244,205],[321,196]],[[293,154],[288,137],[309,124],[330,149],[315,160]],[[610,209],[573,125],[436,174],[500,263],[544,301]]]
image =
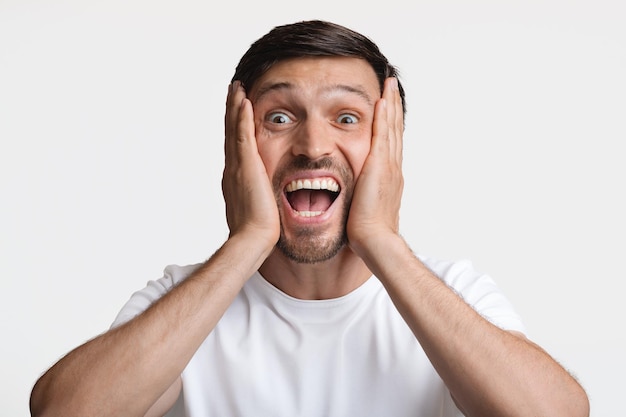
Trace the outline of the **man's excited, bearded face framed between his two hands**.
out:
[[[278,247],[291,260],[324,261],[346,244],[380,95],[366,61],[337,57],[280,62],[248,92],[281,217]]]

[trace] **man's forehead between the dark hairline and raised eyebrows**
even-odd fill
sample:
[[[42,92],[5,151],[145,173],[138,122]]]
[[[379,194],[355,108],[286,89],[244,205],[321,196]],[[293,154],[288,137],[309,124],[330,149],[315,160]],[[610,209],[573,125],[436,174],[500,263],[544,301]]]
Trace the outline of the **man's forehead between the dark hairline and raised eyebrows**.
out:
[[[276,91],[308,94],[343,91],[372,103],[381,96],[371,65],[363,59],[349,57],[305,57],[278,62],[254,83],[248,95],[256,102]]]

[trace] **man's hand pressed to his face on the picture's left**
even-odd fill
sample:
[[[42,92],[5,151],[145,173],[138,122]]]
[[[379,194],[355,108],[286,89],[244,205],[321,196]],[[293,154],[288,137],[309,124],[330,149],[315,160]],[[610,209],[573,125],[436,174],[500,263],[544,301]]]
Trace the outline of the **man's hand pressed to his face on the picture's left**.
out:
[[[252,103],[239,81],[229,87],[224,126],[222,193],[230,236],[251,233],[267,245],[269,254],[278,241],[280,218],[276,197],[257,149]]]

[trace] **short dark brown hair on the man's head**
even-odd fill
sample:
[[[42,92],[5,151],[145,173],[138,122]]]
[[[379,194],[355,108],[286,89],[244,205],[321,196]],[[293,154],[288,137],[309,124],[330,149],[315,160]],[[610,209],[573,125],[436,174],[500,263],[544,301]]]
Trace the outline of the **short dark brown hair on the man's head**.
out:
[[[388,77],[398,77],[378,46],[366,36],[344,26],[321,20],[309,20],[277,26],[254,42],[241,57],[233,81],[239,80],[250,90],[272,65],[290,58],[353,57],[367,61],[378,78],[380,91]],[[404,88],[398,80],[402,108],[406,113]]]

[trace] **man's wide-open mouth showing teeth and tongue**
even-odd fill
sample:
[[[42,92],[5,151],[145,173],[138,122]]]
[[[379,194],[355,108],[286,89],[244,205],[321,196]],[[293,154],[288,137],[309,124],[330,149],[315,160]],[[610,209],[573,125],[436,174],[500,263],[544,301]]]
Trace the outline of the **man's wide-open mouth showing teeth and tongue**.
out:
[[[285,187],[287,201],[302,217],[323,214],[339,196],[339,184],[332,178],[294,180]]]

